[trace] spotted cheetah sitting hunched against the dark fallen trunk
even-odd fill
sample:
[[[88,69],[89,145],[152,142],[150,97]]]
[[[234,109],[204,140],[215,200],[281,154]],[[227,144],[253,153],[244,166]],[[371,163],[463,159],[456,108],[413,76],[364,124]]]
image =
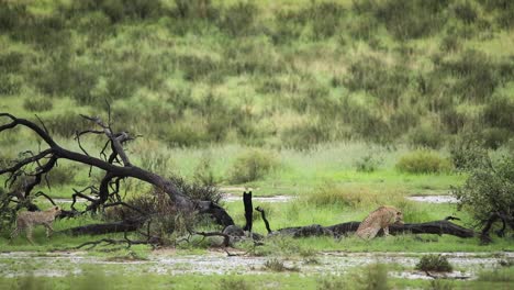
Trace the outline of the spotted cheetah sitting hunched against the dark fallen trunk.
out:
[[[391,224],[403,224],[403,213],[393,207],[380,207],[360,223],[356,235],[365,239],[371,239],[380,228],[383,228],[383,234],[388,236]]]

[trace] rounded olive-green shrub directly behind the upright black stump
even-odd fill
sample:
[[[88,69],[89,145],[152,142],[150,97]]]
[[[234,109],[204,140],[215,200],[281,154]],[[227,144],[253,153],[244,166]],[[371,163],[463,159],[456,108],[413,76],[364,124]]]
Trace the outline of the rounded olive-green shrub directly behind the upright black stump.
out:
[[[273,152],[253,148],[239,155],[232,166],[231,182],[244,183],[262,178],[279,161]]]

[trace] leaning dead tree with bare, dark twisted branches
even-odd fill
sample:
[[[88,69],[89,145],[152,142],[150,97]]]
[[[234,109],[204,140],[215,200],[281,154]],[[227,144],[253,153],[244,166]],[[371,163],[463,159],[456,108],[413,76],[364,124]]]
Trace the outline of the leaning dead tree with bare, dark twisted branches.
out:
[[[29,198],[31,197],[34,188],[42,183],[42,180],[46,178],[46,175],[55,168],[57,161],[60,159],[67,159],[90,166],[90,168],[94,167],[104,171],[103,178],[100,181],[98,188],[89,187],[90,190],[96,190],[96,198],[90,198],[83,194],[83,191],[76,191],[72,196],[74,200],[77,197],[87,199],[89,204],[87,205],[85,212],[96,212],[101,207],[126,207],[126,203],[122,201],[122,198],[119,194],[120,182],[126,178],[135,178],[150,183],[155,188],[165,192],[169,197],[169,202],[174,204],[177,211],[197,211],[202,214],[211,214],[217,223],[224,226],[234,224],[232,217],[226,213],[226,211],[214,202],[193,200],[185,194],[185,192],[181,192],[181,190],[170,179],[132,164],[124,150],[124,145],[127,142],[134,140],[134,136],[132,136],[128,132],[114,132],[112,130],[110,124],[110,109],[108,123],[104,123],[98,116],[81,115],[81,118],[90,121],[91,124],[96,126],[96,129],[76,132],[75,138],[81,149],[81,153],[78,153],[66,149],[57,144],[51,136],[43,122],[41,122],[41,125],[38,125],[32,121],[16,118],[10,113],[0,113],[0,133],[19,126],[25,127],[35,133],[46,145],[46,148],[41,149],[38,153],[27,152],[24,158],[18,159],[4,166],[4,168],[0,168],[0,175],[7,175],[4,186],[10,187],[21,176],[31,177],[31,181],[24,187],[24,192],[21,194],[21,199],[30,200]],[[2,120],[8,122],[3,122],[2,124]],[[91,156],[82,147],[80,138],[88,134],[104,135],[107,138],[105,145],[100,153],[100,156],[103,158]],[[108,156],[107,152],[109,148],[110,153]],[[31,168],[35,169],[31,170]],[[13,198],[9,201],[15,202],[15,199]],[[36,210],[36,208],[33,207],[29,209]],[[75,233],[92,234],[119,231],[123,232],[141,226],[142,224],[143,223],[137,221],[122,221],[113,224],[97,225],[97,227],[89,226],[87,228],[78,228],[75,231]]]

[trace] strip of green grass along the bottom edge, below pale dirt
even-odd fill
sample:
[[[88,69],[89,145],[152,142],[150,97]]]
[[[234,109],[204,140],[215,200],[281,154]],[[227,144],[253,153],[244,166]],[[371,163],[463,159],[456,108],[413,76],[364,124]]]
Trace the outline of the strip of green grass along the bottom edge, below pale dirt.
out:
[[[432,289],[435,283],[449,285],[451,289],[510,289],[512,279],[488,280],[409,280],[384,276],[388,269],[383,266],[368,266],[356,268],[351,274],[335,275],[300,275],[294,272],[261,274],[261,275],[123,275],[123,270],[116,266],[85,267],[82,274],[67,277],[20,277],[0,278],[0,287],[5,289],[368,289],[375,282],[380,281],[380,289]],[[381,268],[380,268],[381,267]],[[380,269],[383,269],[380,270]],[[107,275],[104,271],[110,271]],[[512,268],[505,269],[512,277]],[[490,275],[490,274],[487,274]],[[485,277],[485,274],[482,275]],[[481,276],[481,277],[482,277]],[[375,285],[377,287],[377,285]],[[376,288],[372,288],[376,289]]]

